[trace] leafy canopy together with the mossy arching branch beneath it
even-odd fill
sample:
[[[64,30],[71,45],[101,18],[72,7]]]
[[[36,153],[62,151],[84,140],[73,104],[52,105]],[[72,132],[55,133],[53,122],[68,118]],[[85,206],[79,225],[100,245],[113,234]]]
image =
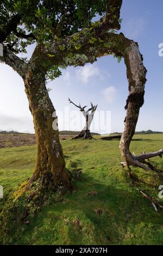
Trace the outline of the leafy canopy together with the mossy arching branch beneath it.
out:
[[[53,80],[61,75],[59,67],[92,63],[98,57],[95,48],[102,50],[110,46],[108,38],[100,39],[100,36],[120,29],[121,5],[122,0],[1,1],[0,43],[6,57],[7,49],[12,53],[26,53],[28,45],[40,45],[42,69],[46,69],[47,80]],[[95,45],[94,49],[90,47]],[[15,56],[12,59],[16,60]],[[13,68],[13,61],[4,62]]]

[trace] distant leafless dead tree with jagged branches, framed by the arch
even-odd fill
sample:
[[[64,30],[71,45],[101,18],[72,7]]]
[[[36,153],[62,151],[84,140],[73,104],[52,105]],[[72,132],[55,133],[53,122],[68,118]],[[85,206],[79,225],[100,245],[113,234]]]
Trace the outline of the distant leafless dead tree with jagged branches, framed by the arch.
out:
[[[74,140],[74,139],[93,139],[93,137],[92,137],[92,135],[91,135],[91,133],[90,133],[90,126],[91,126],[91,123],[92,123],[92,120],[93,120],[93,116],[94,116],[94,114],[95,114],[95,111],[96,111],[96,109],[97,109],[97,105],[93,105],[93,104],[91,103],[91,108],[88,109],[88,110],[85,110],[85,108],[86,108],[87,106],[83,106],[83,108],[82,108],[82,106],[80,105],[80,103],[79,103],[79,106],[78,106],[78,105],[74,104],[74,103],[70,100],[70,98],[68,98],[68,101],[69,101],[70,103],[72,103],[74,106],[76,106],[77,108],[79,108],[80,111],[82,112],[83,116],[85,117],[85,126],[84,126],[83,130],[82,130],[77,136],[75,136],[75,137],[73,138],[73,140]]]

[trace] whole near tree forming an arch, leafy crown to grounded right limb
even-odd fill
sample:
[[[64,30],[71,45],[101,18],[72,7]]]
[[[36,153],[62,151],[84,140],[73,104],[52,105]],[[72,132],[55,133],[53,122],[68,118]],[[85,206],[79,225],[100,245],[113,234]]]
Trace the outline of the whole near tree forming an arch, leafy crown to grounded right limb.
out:
[[[3,45],[0,61],[14,69],[24,81],[37,139],[34,174],[24,190],[34,184],[46,190],[72,188],[58,129],[52,128],[57,116],[48,96],[46,79],[47,76],[50,79],[59,76],[60,67],[84,66],[104,55],[114,54],[118,60],[123,57],[127,67],[129,96],[120,142],[120,150],[126,160],[124,165],[129,171],[130,165],[150,170],[146,159],[162,155],[163,150],[140,156],[131,154],[129,150],[143,105],[146,68],[137,43],[115,32],[121,27],[121,5],[122,0],[0,2],[0,43]],[[96,15],[101,19],[93,22]],[[36,47],[28,62],[16,55],[26,52],[26,46],[33,43]]]

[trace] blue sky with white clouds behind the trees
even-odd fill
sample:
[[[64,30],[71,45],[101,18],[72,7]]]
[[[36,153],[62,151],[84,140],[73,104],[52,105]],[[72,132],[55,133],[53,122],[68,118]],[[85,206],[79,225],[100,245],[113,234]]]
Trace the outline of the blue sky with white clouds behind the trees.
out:
[[[139,43],[147,68],[145,104],[140,109],[136,130],[163,131],[162,66],[159,44],[163,43],[162,0],[123,0],[121,32]],[[120,33],[120,32],[118,32]],[[33,47],[28,47],[28,55]],[[112,56],[98,58],[84,67],[68,67],[62,76],[48,86],[58,115],[59,130],[81,130],[84,117],[68,97],[82,106],[98,104],[91,130],[101,134],[123,132],[128,97],[128,81],[124,61]],[[14,70],[0,63],[0,130],[34,133],[23,80]]]

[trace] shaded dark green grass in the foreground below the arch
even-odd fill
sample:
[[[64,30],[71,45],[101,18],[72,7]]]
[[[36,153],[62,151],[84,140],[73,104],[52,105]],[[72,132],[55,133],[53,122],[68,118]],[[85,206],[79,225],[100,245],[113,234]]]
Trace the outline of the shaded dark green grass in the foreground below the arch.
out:
[[[20,237],[12,237],[13,243],[148,244],[156,243],[155,237],[159,241],[157,228],[163,224],[162,212],[155,212],[135,188],[127,184],[122,189],[118,183],[106,186],[90,180],[85,173],[76,186],[77,191],[67,194],[59,203],[45,206],[28,226],[23,226]],[[97,194],[87,195],[92,191]]]

